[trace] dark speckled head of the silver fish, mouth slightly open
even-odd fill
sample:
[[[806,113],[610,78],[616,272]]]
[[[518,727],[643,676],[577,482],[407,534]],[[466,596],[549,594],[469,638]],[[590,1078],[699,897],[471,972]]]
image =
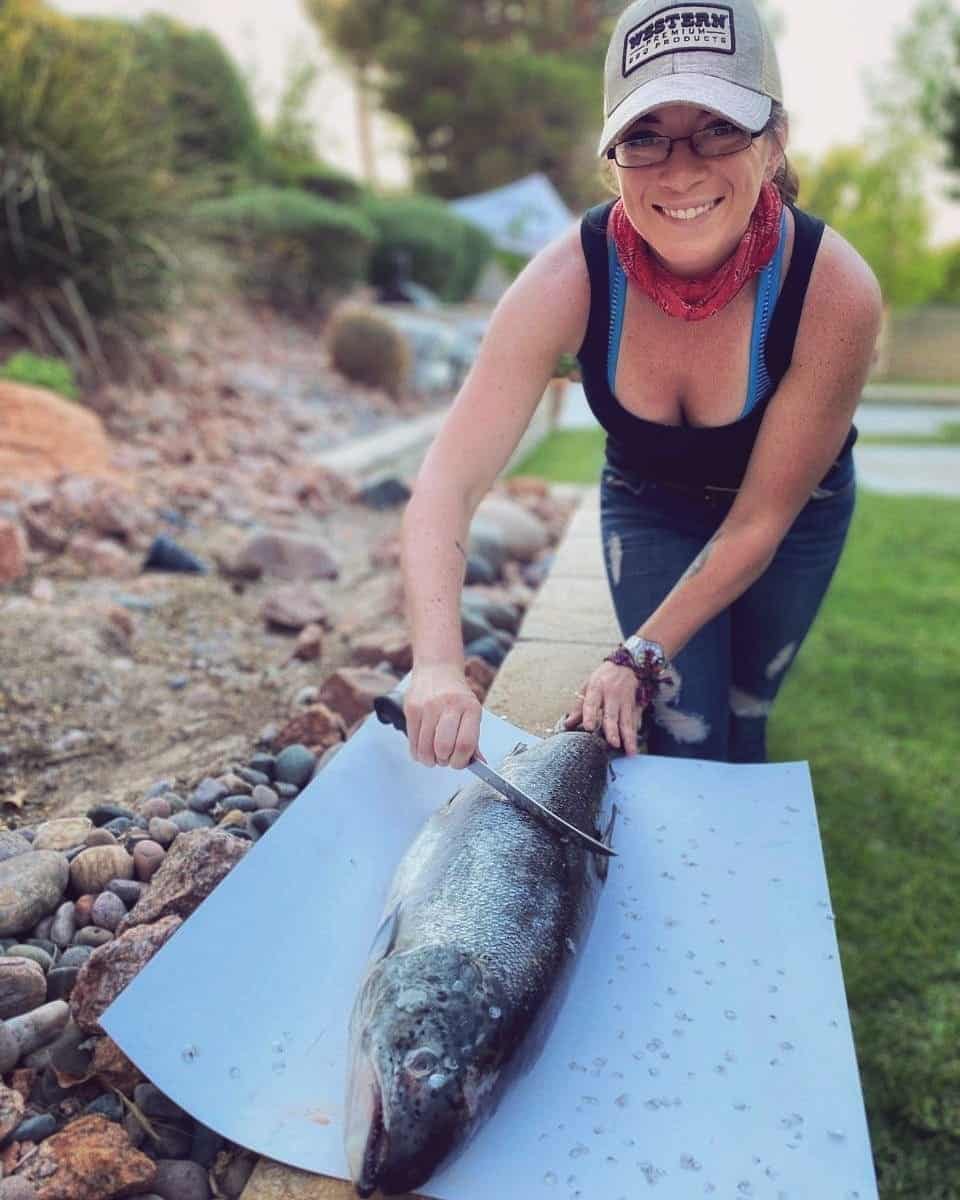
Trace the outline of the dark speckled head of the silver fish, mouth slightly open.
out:
[[[462,1148],[499,1097],[506,1002],[452,947],[391,954],[368,972],[352,1021],[346,1145],[360,1195],[412,1192]]]

